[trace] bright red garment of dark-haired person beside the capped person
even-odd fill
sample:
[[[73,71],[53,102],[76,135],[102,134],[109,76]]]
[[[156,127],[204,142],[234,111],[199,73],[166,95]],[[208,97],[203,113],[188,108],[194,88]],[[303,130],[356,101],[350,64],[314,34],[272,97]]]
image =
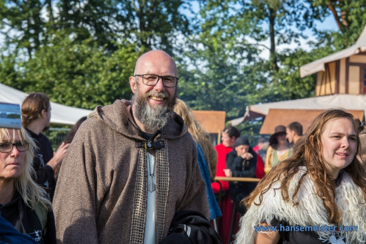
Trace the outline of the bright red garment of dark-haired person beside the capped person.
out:
[[[225,176],[224,169],[226,169],[226,155],[230,153],[232,150],[231,147],[226,147],[222,143],[215,146],[217,155],[218,155],[218,162],[216,165],[216,176]],[[222,190],[226,191],[229,190],[229,181],[222,181],[220,180]],[[220,185],[218,182],[211,183],[212,190],[214,193],[220,192]]]

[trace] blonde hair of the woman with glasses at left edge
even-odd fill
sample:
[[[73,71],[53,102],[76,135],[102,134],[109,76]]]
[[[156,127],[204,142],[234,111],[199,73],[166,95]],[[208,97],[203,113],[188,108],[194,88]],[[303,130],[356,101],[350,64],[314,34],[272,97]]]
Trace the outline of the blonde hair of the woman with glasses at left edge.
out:
[[[31,135],[22,127],[21,129],[6,129],[0,128],[0,142],[4,140],[11,141],[15,136],[19,137],[20,141],[28,142],[28,150],[25,151],[23,170],[18,178],[14,180],[14,188],[22,196],[24,203],[35,209],[37,205],[50,210],[51,202],[45,197],[46,192],[33,180],[36,171],[33,169],[34,151],[37,148],[36,143]]]

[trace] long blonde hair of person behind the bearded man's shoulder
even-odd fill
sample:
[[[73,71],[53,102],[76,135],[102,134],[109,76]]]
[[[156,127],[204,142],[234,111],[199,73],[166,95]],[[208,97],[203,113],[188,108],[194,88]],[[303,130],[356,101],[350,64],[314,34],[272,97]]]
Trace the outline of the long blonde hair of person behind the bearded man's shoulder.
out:
[[[174,107],[174,112],[180,115],[188,128],[188,132],[192,135],[193,140],[202,147],[203,155],[209,164],[210,178],[213,179],[216,175],[217,155],[214,145],[210,140],[210,136],[202,129],[202,126],[194,119],[191,109],[185,102],[177,99]]]

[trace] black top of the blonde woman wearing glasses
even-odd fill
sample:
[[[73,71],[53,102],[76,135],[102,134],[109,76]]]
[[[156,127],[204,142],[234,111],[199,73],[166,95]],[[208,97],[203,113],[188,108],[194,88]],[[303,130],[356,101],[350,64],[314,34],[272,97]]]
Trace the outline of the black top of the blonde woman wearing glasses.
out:
[[[0,204],[0,213],[17,231],[31,236],[38,244],[56,243],[56,227],[52,210],[47,214],[44,231],[36,212],[25,205],[18,192],[14,194],[10,202]]]

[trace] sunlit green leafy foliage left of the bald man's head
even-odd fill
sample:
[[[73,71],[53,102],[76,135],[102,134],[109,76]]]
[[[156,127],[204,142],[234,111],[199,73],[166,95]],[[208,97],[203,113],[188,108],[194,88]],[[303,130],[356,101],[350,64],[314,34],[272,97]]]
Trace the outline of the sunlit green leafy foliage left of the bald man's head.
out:
[[[129,77],[139,55],[129,43],[106,55],[92,38],[77,44],[67,35],[59,35],[40,48],[34,58],[19,64],[22,69],[15,80],[25,87],[24,92],[42,91],[53,102],[94,109],[130,98]],[[5,77],[3,83],[12,82]]]

